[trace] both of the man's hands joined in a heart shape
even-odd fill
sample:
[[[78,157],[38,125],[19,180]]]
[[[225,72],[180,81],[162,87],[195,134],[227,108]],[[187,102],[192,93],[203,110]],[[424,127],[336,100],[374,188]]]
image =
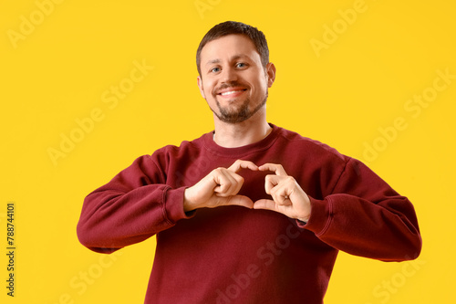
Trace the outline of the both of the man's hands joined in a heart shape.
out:
[[[270,171],[266,175],[264,190],[272,196],[253,202],[239,195],[244,178],[238,174],[242,169]],[[237,160],[229,168],[217,168],[192,187],[185,189],[183,208],[185,212],[198,208],[214,208],[222,205],[242,205],[247,208],[272,210],[306,222],[310,216],[310,200],[293,176],[285,173],[280,164],[265,163],[258,167],[254,162]]]

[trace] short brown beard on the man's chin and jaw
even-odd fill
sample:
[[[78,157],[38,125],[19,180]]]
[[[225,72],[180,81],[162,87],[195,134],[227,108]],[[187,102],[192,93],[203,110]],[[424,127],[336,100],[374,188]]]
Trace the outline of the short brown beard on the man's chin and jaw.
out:
[[[212,112],[217,116],[220,121],[227,122],[227,123],[239,123],[243,121],[247,121],[249,118],[254,116],[254,114],[263,108],[264,104],[266,103],[268,96],[268,92],[266,90],[266,95],[264,96],[264,100],[262,100],[253,110],[250,110],[250,102],[249,98],[245,99],[244,102],[237,107],[237,109],[230,109],[229,107],[223,108],[220,104],[219,100],[215,99],[217,103],[217,107],[219,108],[219,112],[212,110]]]

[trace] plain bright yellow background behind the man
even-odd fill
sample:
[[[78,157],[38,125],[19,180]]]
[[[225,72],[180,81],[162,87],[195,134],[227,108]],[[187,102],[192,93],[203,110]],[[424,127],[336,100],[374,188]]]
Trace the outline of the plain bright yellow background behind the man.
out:
[[[2,303],[142,303],[155,239],[112,259],[90,252],[76,236],[82,201],[137,156],[212,130],[194,56],[205,32],[229,19],[268,39],[277,68],[268,121],[366,161],[416,207],[419,263],[341,253],[326,303],[455,302],[456,79],[444,89],[440,79],[420,115],[405,108],[432,92],[438,70],[456,75],[454,1],[56,2],[0,4]],[[356,7],[363,12],[343,21]],[[316,51],[311,41],[325,38]],[[103,94],[131,83],[135,62],[154,68],[109,108]],[[76,136],[76,120],[96,109],[102,119],[54,163],[49,148],[59,150],[61,134]],[[385,144],[378,129],[398,118],[407,128]],[[367,158],[374,142],[381,151]],[[8,202],[16,202],[14,299],[5,289]]]

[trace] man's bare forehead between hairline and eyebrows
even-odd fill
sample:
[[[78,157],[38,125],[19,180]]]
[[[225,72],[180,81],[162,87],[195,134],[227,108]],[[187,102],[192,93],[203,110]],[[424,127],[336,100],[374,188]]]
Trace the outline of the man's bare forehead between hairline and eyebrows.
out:
[[[214,60],[223,61],[240,57],[261,61],[254,43],[244,35],[223,36],[202,47],[201,61],[203,65]]]

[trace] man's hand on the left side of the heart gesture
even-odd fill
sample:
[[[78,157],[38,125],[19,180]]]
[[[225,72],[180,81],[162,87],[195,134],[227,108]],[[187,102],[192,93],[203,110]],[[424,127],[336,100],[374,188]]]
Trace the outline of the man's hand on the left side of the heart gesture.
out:
[[[185,212],[198,208],[214,208],[234,204],[253,208],[254,202],[244,195],[238,195],[244,178],[237,174],[241,169],[258,170],[254,162],[237,160],[228,168],[217,168],[202,180],[185,189],[183,210]]]

